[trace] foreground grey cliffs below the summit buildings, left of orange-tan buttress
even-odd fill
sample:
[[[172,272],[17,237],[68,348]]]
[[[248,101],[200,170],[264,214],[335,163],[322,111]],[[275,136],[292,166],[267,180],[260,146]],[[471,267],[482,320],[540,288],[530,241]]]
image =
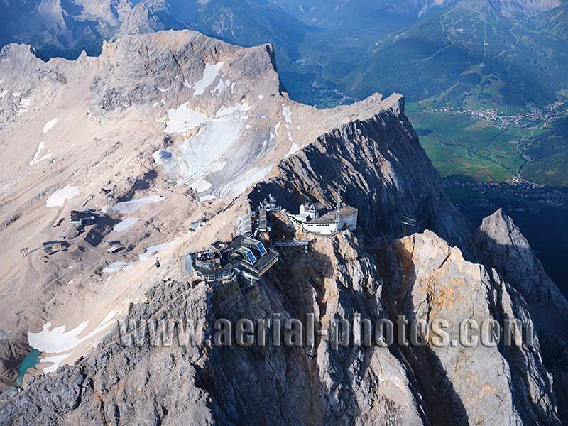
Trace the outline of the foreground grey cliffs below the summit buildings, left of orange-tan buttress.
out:
[[[357,251],[351,236],[322,241],[309,258],[301,258],[293,256],[270,280],[248,290],[236,283],[215,288],[161,283],[148,293],[148,303],[133,307],[129,318],[204,320],[203,342],[190,349],[124,348],[114,332],[77,366],[37,378],[25,391],[12,388],[2,394],[0,420],[13,425],[40,425],[48,418],[58,418],[61,425],[151,419],[317,425],[359,419],[367,425],[421,425],[405,369],[388,349],[336,352],[322,339],[311,359],[300,347],[271,342],[250,349],[211,346],[214,318],[257,320],[279,314],[284,320],[315,312],[323,324],[353,312],[367,318],[381,315],[375,262]],[[297,280],[288,279],[290,274]],[[175,391],[164,393],[166,388]],[[31,409],[32,400],[42,410]]]

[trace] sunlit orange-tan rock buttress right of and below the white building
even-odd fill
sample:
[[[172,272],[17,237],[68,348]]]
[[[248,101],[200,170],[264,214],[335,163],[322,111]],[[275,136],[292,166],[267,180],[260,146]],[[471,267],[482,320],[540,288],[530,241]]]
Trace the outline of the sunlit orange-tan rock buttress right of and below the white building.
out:
[[[507,347],[503,329],[499,344],[481,342],[482,324],[488,320],[530,324],[523,298],[495,271],[464,261],[459,249],[430,231],[395,241],[394,247],[395,253],[383,258],[391,315],[449,324],[449,344],[433,344],[430,334],[422,348],[401,348],[433,423],[559,424],[538,340],[532,346]],[[479,324],[480,340],[464,347],[460,327],[470,320]]]

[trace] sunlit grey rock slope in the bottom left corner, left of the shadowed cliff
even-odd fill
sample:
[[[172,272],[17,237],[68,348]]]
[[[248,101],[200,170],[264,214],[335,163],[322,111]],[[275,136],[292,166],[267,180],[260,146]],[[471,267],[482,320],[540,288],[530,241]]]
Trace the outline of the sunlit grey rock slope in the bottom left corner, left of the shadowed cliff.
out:
[[[160,318],[166,313],[207,319],[204,285],[190,288],[187,284],[162,283],[148,297],[150,303],[133,307],[131,319]],[[100,349],[77,366],[36,379],[28,386],[26,398],[16,388],[2,393],[0,422],[131,425],[159,423],[167,416],[170,424],[187,419],[200,425],[212,424],[209,395],[195,383],[202,348],[125,348],[116,331]]]

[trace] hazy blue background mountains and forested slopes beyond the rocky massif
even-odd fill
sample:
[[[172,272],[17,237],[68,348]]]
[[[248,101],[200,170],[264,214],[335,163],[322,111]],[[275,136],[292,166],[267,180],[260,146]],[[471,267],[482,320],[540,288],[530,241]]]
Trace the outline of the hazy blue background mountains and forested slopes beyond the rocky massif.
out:
[[[353,102],[373,92],[403,92],[411,102],[441,96],[441,103],[461,104],[461,94],[477,92],[476,85],[486,81],[483,72],[477,77],[471,70],[488,59],[486,75],[506,84],[491,100],[524,106],[554,102],[565,88],[564,63],[541,47],[565,50],[564,9],[559,0],[5,1],[0,45],[27,43],[45,60],[75,59],[82,50],[99,55],[105,40],[188,28],[237,45],[271,43],[293,99],[317,105]],[[481,28],[482,22],[491,25]],[[488,58],[483,43],[491,46]],[[508,50],[506,58],[499,55]],[[438,67],[449,54],[452,65]],[[535,80],[532,68],[543,75],[538,84],[529,84]],[[401,70],[408,74],[399,75]],[[464,89],[454,93],[457,82]]]

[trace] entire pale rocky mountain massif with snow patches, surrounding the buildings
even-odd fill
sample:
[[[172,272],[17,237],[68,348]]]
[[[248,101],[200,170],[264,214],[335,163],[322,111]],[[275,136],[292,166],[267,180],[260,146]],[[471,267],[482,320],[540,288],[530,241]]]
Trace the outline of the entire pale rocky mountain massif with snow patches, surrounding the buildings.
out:
[[[543,354],[562,336],[542,327],[529,298],[562,295],[502,212],[474,232],[447,201],[400,95],[329,110],[297,104],[282,92],[271,46],[239,48],[192,31],[125,36],[99,58],[77,61],[35,62],[29,48],[14,45],[1,55],[6,90],[28,84],[12,95],[16,107],[0,133],[0,233],[16,247],[0,282],[10,330],[0,341],[4,368],[35,334],[54,343],[71,333],[78,342],[48,361],[43,355],[23,389],[0,394],[2,424],[560,424],[557,378],[566,373],[555,365],[552,376]],[[26,67],[33,84],[18,72]],[[25,111],[21,99],[29,99]],[[38,140],[45,146],[31,155]],[[30,158],[10,156],[16,144]],[[207,146],[214,150],[191,156]],[[250,203],[273,193],[291,211],[305,198],[329,204],[338,185],[359,208],[354,233],[314,238],[278,215],[274,228],[312,239],[307,255],[287,252],[252,288],[187,282],[185,253],[228,239]],[[58,204],[52,197],[65,187]],[[21,257],[20,244],[59,234],[52,223],[74,207],[119,214],[107,214],[109,223],[84,240],[70,239],[65,253]],[[125,218],[142,223],[121,234],[115,226]],[[133,246],[119,257],[124,265],[94,241],[95,230],[99,242],[117,237]],[[520,264],[530,273],[519,276]],[[107,324],[107,312],[112,320],[203,320],[204,339],[124,346],[116,327],[93,327]],[[276,313],[313,313],[321,324],[356,314],[373,322],[446,318],[452,338],[466,317],[534,318],[539,328],[533,346],[509,349],[428,342],[336,351],[321,338],[312,358],[298,347],[212,345],[214,319]],[[60,327],[60,336],[50,334]],[[97,330],[98,340],[82,340]],[[54,356],[72,365],[57,368]],[[13,367],[6,370],[10,383]]]

